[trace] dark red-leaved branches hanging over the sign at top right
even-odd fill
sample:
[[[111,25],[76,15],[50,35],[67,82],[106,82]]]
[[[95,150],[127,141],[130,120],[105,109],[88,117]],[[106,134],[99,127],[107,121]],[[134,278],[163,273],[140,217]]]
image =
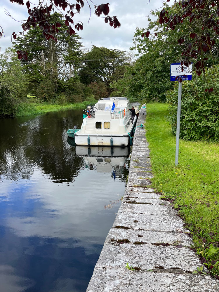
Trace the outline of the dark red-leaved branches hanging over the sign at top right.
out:
[[[176,2],[175,7],[176,11],[172,13],[164,6],[159,14],[159,23],[167,30],[181,29],[180,37],[174,40],[181,47],[181,65],[188,67],[195,59],[196,73],[200,76],[201,71],[205,72],[209,58],[212,62],[212,58],[219,57],[219,1],[182,0]],[[185,22],[187,27],[183,30]],[[150,30],[147,30],[142,37],[149,35]]]

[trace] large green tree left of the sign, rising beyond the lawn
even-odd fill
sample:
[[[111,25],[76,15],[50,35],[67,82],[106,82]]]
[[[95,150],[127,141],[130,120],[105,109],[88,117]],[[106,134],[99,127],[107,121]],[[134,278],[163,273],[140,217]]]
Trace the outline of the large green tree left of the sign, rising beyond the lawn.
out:
[[[168,6],[164,4],[165,11],[171,15],[178,12],[178,4]],[[140,58],[135,64],[127,68],[124,78],[114,82],[112,86],[117,87],[119,93],[134,98],[149,100],[166,100],[166,91],[173,88],[170,82],[170,64],[182,61],[182,48],[178,42],[182,31],[186,32],[190,25],[189,19],[185,19],[180,27],[169,30],[168,24],[160,23],[160,12],[152,11],[152,16],[157,19],[152,21],[148,18],[147,29],[136,29],[133,39],[132,50],[137,50]],[[150,37],[143,37],[144,31],[153,31]],[[149,35],[146,35],[149,36]],[[215,44],[218,44],[218,40]],[[216,50],[206,52],[208,57],[208,67],[213,63],[218,63]],[[191,58],[194,62],[195,59]]]

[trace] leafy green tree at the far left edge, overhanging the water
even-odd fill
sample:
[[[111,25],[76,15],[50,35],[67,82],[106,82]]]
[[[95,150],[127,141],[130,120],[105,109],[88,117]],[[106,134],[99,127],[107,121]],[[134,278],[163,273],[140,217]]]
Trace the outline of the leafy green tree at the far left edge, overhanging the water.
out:
[[[15,50],[8,48],[0,54],[0,114],[11,116],[25,97],[27,76],[22,72]]]

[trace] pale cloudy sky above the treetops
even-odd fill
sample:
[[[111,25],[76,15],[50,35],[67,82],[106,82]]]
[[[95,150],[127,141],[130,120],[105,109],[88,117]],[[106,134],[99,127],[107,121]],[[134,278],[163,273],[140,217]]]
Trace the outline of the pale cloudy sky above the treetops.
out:
[[[36,4],[39,0],[32,0]],[[89,0],[88,0],[89,1]],[[26,1],[24,1],[26,2]],[[72,3],[76,1],[72,0]],[[86,2],[86,1],[85,1]],[[107,3],[103,0],[95,0],[95,4],[99,5]],[[91,11],[88,5],[84,5],[80,14],[74,16],[74,23],[82,21],[84,30],[79,32],[82,37],[82,43],[85,48],[90,48],[92,45],[104,46],[109,49],[128,50],[132,46],[132,39],[136,27],[147,27],[147,15],[151,10],[160,8],[163,1],[161,0],[109,0],[109,16],[116,15],[121,27],[114,29],[105,24],[103,18],[98,18],[94,14],[94,9]],[[173,3],[171,0],[169,3]],[[34,6],[32,6],[34,7]],[[6,15],[6,10],[11,14],[11,17]],[[9,0],[1,0],[0,10],[0,25],[4,30],[5,37],[0,39],[0,47],[2,51],[11,46],[11,34],[21,31],[21,23],[18,21],[26,20],[28,17],[27,7],[11,3]],[[16,21],[17,20],[17,21]],[[89,21],[89,23],[88,23]]]

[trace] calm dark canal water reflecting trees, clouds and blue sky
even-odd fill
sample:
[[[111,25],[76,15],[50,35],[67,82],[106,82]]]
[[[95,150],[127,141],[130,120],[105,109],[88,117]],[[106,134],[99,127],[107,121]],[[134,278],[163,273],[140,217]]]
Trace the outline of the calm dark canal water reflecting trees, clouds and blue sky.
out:
[[[104,205],[125,191],[128,149],[70,145],[82,113],[1,119],[1,292],[86,291],[120,203]]]

